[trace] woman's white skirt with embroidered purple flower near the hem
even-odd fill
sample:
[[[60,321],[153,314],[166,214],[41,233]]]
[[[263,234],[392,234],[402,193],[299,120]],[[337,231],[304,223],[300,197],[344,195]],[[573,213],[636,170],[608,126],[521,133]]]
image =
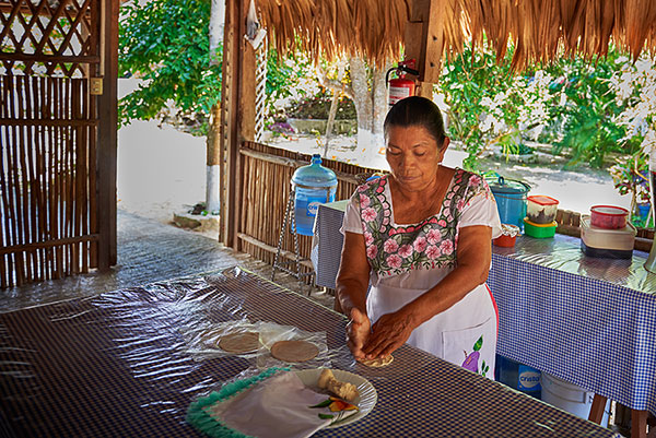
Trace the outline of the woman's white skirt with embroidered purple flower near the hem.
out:
[[[378,284],[366,299],[368,318],[374,322],[421,296],[425,291]],[[444,360],[494,379],[497,315],[494,298],[481,284],[461,300],[419,325],[408,344]]]

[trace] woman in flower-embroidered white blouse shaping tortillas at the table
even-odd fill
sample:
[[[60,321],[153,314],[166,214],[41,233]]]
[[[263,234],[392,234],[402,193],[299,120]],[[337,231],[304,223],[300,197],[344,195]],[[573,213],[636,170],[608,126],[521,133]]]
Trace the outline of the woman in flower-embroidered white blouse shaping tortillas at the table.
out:
[[[494,198],[479,175],[441,165],[449,139],[431,100],[399,100],[384,129],[391,174],[358,188],[342,225],[337,305],[351,319],[349,347],[363,360],[407,342],[492,377]]]

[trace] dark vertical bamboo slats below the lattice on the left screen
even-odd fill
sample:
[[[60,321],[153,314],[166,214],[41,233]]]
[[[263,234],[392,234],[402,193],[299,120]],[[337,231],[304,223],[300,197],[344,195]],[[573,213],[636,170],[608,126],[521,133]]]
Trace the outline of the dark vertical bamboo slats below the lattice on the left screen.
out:
[[[0,88],[1,287],[87,272],[97,265],[87,81],[0,75]]]

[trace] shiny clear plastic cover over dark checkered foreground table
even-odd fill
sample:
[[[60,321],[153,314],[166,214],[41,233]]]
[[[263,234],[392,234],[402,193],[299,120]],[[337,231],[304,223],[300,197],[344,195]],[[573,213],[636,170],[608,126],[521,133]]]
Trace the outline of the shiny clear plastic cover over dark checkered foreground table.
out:
[[[190,353],[189,332],[230,321],[323,333],[320,365],[372,382],[375,409],[318,437],[616,436],[408,345],[388,367],[364,367],[344,346],[345,318],[241,269],[0,313],[0,430],[201,436],[185,421],[189,405],[262,369],[260,354]]]

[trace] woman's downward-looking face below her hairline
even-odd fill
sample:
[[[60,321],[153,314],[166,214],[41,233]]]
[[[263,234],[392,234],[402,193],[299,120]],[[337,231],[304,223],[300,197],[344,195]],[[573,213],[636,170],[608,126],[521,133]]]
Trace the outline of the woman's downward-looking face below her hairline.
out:
[[[387,129],[385,155],[391,174],[403,189],[422,190],[435,181],[447,145],[448,138],[438,145],[423,127],[391,126]]]

